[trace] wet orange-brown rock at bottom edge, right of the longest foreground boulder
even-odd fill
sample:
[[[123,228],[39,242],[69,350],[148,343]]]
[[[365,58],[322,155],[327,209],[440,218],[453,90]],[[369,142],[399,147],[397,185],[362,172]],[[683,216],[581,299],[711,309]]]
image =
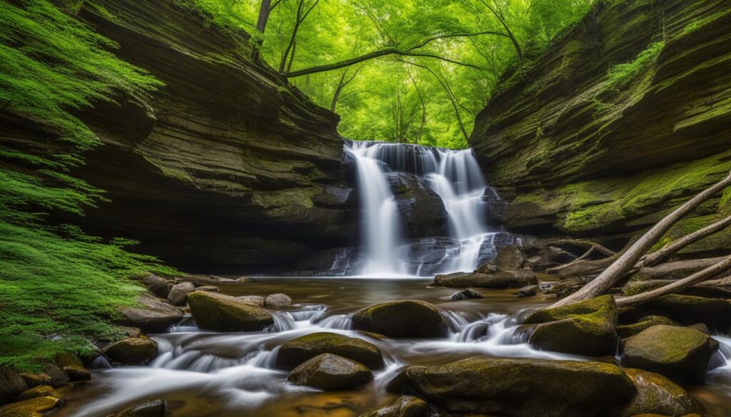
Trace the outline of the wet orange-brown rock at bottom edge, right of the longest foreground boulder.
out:
[[[705,408],[686,390],[662,375],[644,370],[624,371],[637,387],[637,395],[619,414],[620,417],[655,413],[667,416],[705,414]]]

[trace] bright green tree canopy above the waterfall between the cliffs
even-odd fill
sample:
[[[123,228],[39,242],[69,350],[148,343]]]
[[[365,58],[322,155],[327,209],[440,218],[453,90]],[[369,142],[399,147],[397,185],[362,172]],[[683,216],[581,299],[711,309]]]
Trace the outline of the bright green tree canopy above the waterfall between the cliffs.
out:
[[[360,140],[465,148],[510,69],[594,0],[187,0],[254,34],[262,59]]]

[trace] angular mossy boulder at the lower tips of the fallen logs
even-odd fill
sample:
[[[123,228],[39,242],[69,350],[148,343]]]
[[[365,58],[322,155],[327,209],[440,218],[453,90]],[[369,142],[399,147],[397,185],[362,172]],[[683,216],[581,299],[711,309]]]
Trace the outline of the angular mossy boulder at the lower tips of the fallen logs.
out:
[[[606,295],[563,307],[545,308],[526,318],[529,343],[543,351],[613,355],[617,348],[618,309]]]

